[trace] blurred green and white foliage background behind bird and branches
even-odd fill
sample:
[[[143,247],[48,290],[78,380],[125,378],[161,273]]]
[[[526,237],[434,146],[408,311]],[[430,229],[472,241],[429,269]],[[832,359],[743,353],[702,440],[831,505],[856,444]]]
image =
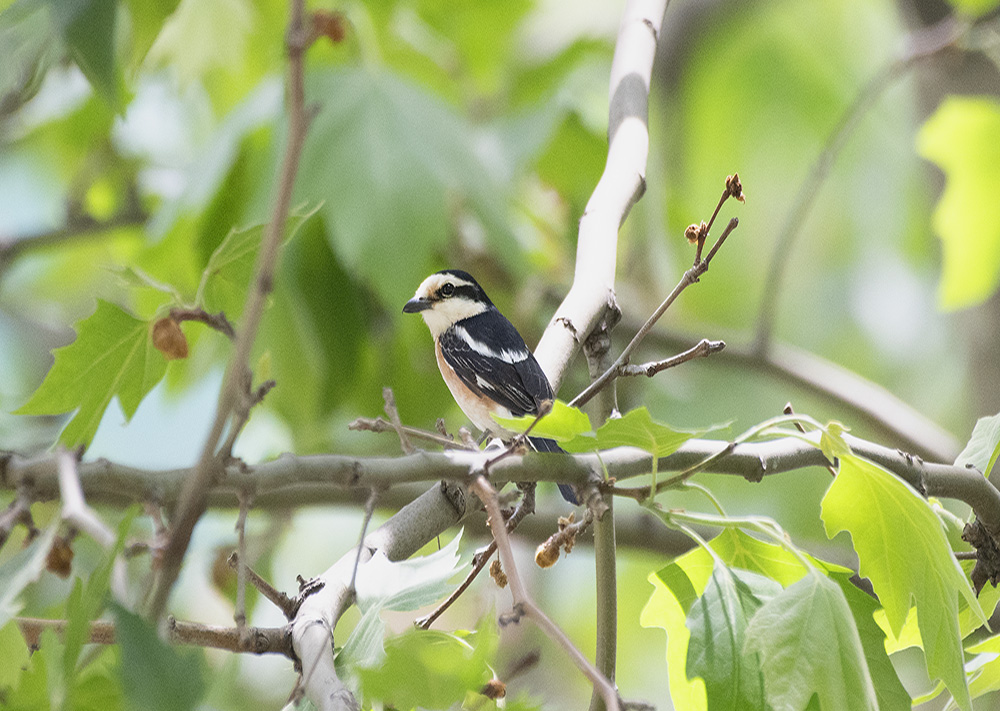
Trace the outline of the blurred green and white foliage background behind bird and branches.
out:
[[[308,53],[307,102],[316,113],[295,191],[297,205],[319,209],[282,255],[252,359],[258,378],[278,385],[255,410],[238,454],[248,461],[283,451],[395,454],[392,437],[347,429],[355,417],[381,413],[385,386],[407,424],[430,428],[438,417],[451,431],[467,424],[440,380],[424,326],[400,308],[428,273],[462,268],[529,345],[537,342],[571,283],[577,220],[603,169],[622,7],[399,0],[333,8],[346,18],[346,37]],[[159,287],[193,299],[230,230],[269,214],[283,148],[287,7],[0,0],[0,8],[0,448],[27,453],[48,448],[67,418],[11,412],[97,299],[140,319],[162,315],[174,297]],[[782,254],[785,278],[773,308],[761,308],[777,235],[841,116],[912,32],[951,11],[918,0],[670,4],[654,68],[647,192],[620,236],[615,351],[690,265],[684,228],[708,219],[726,176],[739,171],[747,203],[722,213],[737,215],[739,229],[637,360],[702,337],[746,353],[764,318],[774,342],[883,386],[950,433],[957,454],[975,419],[1000,409],[993,294],[1000,259],[984,243],[975,260],[986,286],[961,303],[947,298],[932,227],[943,175],[916,145],[946,95],[986,94],[995,104],[995,22],[960,43],[982,51],[940,52],[877,96]],[[987,239],[984,232],[976,238]],[[129,423],[113,402],[87,458],[150,468],[195,460],[228,349],[197,324],[185,331],[191,357],[169,365]],[[570,399],[586,378],[580,359],[560,396]],[[798,412],[899,444],[856,410],[726,355],[623,382],[619,398],[623,410],[644,404],[678,427],[731,422],[721,437],[791,401]],[[822,469],[760,485],[704,478],[730,513],[774,516],[811,550],[849,560],[849,549],[833,546],[820,525],[828,482]],[[677,497],[669,505],[705,503]],[[547,498],[542,515],[556,507]],[[350,546],[359,510],[254,514],[252,526],[280,541],[277,550],[262,541],[258,555],[287,587]],[[627,501],[618,510],[623,521],[636,515]],[[224,624],[231,615],[211,568],[215,548],[232,544],[233,518],[212,514],[199,527],[179,616]],[[329,549],[303,546],[317,531]],[[525,551],[536,543],[526,540]],[[638,614],[651,590],[646,576],[670,554],[626,550],[620,562],[619,684],[627,697],[658,708],[669,707],[662,632],[641,629]],[[531,580],[543,607],[588,653],[592,567],[581,547]],[[58,594],[39,597],[46,599],[32,601],[36,613]],[[482,583],[443,624],[474,627],[490,605],[503,609],[507,601]],[[255,624],[269,623],[270,611],[260,606],[257,614]],[[569,663],[547,642],[532,643],[542,645],[544,660],[529,675],[532,693],[546,708],[579,707],[589,694]],[[232,672],[217,684],[250,689],[244,693],[262,705],[280,706],[291,687],[292,671],[280,660],[209,657]],[[219,708],[240,707],[224,697]]]

